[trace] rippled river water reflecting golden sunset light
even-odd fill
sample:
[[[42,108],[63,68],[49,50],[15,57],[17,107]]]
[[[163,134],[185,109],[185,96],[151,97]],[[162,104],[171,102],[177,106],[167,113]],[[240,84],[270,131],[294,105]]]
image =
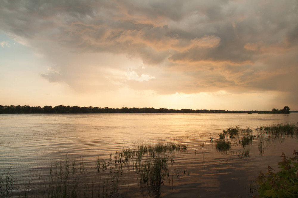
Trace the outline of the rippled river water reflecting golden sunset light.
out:
[[[260,171],[266,172],[268,164],[276,167],[282,152],[291,155],[298,149],[297,138],[267,142],[263,155],[254,141],[246,146],[250,153],[244,158],[243,147],[236,141],[231,150],[222,153],[210,137],[215,140],[223,129],[238,125],[255,130],[260,125],[297,121],[298,113],[1,114],[0,173],[11,168],[19,181],[26,174],[38,183],[38,175],[48,174],[51,162],[66,154],[83,158],[86,167],[94,169],[98,158],[108,159],[123,147],[178,139],[185,141],[188,149],[176,156],[174,165],[190,175],[181,174],[175,190],[164,190],[162,196],[248,197],[250,181]]]

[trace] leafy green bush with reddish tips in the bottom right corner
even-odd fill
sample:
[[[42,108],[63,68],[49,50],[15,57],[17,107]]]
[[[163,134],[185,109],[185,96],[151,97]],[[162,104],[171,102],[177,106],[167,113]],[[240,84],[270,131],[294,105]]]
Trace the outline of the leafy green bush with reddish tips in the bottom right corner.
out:
[[[267,173],[257,177],[257,183],[260,185],[258,192],[260,197],[297,197],[298,196],[298,152],[294,150],[294,157],[289,158],[282,153],[283,161],[279,162],[279,168],[282,170],[274,173],[268,165]]]

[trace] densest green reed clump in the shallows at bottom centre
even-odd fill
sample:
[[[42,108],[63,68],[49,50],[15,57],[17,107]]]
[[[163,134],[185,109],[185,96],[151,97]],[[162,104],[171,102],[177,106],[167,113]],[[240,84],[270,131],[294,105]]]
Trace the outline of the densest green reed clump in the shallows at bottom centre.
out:
[[[155,142],[149,144],[138,144],[136,148],[125,148],[115,154],[115,162],[121,166],[133,164],[133,170],[138,175],[138,183],[143,195],[159,197],[161,185],[167,179],[170,184],[170,172],[168,171],[168,160],[173,167],[174,153],[187,152],[187,143],[184,141]],[[177,177],[179,179],[179,177]]]

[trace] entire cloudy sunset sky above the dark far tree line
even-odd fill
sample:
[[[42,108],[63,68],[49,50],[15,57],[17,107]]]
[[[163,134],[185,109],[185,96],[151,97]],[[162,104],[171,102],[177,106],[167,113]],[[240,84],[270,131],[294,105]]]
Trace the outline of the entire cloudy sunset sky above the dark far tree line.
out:
[[[0,104],[298,110],[297,0],[1,0]]]

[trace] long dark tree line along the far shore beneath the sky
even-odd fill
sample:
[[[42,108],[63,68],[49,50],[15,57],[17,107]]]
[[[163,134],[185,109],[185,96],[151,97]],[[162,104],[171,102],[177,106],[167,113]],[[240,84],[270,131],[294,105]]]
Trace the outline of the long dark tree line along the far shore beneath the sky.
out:
[[[288,109],[290,110],[290,109]],[[79,106],[2,106],[0,105],[0,114],[103,114],[103,113],[266,113],[268,111],[230,111],[219,109],[165,109],[165,108],[109,108],[109,107],[79,107]]]

